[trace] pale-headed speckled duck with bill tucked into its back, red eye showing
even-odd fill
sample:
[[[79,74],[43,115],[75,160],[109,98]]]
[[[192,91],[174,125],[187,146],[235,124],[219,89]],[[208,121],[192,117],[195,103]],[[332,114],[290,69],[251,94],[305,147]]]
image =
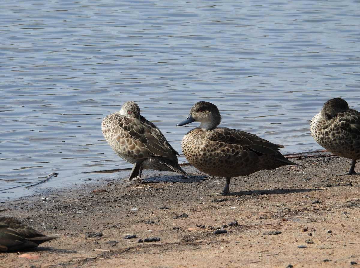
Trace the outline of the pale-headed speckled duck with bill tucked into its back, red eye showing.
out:
[[[140,115],[136,102],[124,102],[120,111],[104,117],[101,128],[105,140],[117,155],[134,164],[129,181],[141,180],[143,169],[174,171],[188,178],[177,162],[179,153],[155,124]]]

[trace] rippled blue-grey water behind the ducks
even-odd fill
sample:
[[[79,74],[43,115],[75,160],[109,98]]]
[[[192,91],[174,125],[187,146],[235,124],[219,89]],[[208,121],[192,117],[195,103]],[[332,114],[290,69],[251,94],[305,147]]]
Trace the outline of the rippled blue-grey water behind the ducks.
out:
[[[173,147],[200,100],[298,153],[329,98],[360,108],[360,1],[0,1],[0,199],[128,172],[104,116],[136,101]],[[181,156],[179,162],[186,162]],[[52,172],[46,184],[41,182]]]

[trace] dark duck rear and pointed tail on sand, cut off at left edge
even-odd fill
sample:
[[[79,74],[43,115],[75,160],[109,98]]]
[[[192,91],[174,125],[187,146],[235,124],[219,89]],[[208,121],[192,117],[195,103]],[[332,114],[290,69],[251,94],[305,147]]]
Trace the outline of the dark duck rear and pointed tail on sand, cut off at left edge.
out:
[[[57,238],[43,235],[16,218],[0,217],[0,251],[32,249]]]

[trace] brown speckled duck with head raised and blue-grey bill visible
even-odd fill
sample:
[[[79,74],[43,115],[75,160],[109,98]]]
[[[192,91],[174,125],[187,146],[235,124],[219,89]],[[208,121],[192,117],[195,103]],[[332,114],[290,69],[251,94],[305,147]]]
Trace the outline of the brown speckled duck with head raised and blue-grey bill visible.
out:
[[[198,170],[226,178],[224,191],[211,195],[229,195],[231,177],[297,165],[279,152],[283,145],[245,131],[218,127],[221,115],[216,105],[210,102],[195,103],[189,116],[177,126],[194,121],[200,122],[200,125],[185,134],[181,149],[186,160]]]

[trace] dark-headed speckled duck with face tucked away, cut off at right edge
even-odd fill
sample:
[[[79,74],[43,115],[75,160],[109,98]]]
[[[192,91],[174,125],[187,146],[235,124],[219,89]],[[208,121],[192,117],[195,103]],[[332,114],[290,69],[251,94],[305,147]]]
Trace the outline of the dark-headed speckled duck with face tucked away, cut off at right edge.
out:
[[[351,159],[349,172],[339,175],[356,175],[355,165],[360,159],[360,112],[350,109],[342,98],[332,98],[312,117],[310,133],[327,151]]]

